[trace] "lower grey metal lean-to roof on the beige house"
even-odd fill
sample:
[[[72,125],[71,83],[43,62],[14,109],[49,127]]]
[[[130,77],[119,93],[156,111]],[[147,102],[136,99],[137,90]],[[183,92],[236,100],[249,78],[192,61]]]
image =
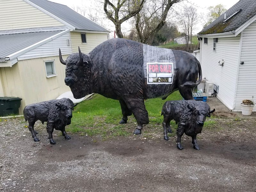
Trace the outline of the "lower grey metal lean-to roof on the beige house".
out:
[[[41,31],[41,32],[29,32],[29,33],[15,33],[15,34],[0,34],[0,58],[9,57],[16,53],[20,52],[23,49],[26,49],[32,45],[40,45],[40,42],[49,39],[52,36],[61,34],[64,30],[61,31]],[[49,39],[51,41],[52,38]],[[31,47],[33,48],[33,47]],[[21,52],[22,54],[22,52]],[[13,55],[13,58],[15,56]]]

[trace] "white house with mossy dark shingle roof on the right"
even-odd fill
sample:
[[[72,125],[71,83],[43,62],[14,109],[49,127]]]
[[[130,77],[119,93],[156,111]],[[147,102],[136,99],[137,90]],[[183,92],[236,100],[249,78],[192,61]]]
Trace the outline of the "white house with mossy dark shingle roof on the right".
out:
[[[256,98],[256,0],[240,0],[197,36],[203,77],[219,86],[217,98],[230,110],[241,111],[242,100]]]

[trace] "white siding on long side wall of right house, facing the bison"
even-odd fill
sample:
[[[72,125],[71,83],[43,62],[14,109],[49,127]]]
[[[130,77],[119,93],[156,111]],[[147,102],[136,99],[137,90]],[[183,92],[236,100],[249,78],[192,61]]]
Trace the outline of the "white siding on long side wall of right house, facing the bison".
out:
[[[230,109],[234,108],[237,65],[240,36],[218,38],[216,52],[213,51],[213,38],[208,38],[208,44],[202,42],[201,66],[203,77],[219,85],[217,97]],[[219,60],[224,65],[219,66]]]

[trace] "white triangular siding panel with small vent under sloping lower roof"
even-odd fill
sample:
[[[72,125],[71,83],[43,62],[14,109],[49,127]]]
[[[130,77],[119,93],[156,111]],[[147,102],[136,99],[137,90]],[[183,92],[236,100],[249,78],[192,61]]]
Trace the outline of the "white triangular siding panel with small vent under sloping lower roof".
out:
[[[25,54],[19,56],[18,60],[56,56],[59,55],[59,48],[62,55],[71,54],[71,44],[69,46],[67,45],[67,39],[70,40],[69,32],[29,52],[26,52]]]

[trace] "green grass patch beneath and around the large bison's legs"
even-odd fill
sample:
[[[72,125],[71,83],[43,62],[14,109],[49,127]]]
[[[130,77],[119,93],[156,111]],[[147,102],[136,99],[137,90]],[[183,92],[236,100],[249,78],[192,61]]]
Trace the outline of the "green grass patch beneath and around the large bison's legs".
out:
[[[162,106],[167,100],[181,100],[179,91],[173,92],[166,100],[161,98],[148,99],[145,106],[148,110],[148,125],[143,126],[146,129],[142,131],[142,137],[151,137],[154,134],[162,134],[163,116],[161,116]],[[80,135],[100,135],[103,139],[115,136],[131,136],[137,126],[136,119],[133,116],[128,117],[127,124],[119,124],[122,118],[122,112],[118,100],[112,100],[99,94],[94,94],[92,99],[79,103],[73,111],[72,123],[66,130],[70,133]],[[169,136],[176,135],[177,125],[171,122],[173,132]],[[214,122],[209,122],[209,126]]]

